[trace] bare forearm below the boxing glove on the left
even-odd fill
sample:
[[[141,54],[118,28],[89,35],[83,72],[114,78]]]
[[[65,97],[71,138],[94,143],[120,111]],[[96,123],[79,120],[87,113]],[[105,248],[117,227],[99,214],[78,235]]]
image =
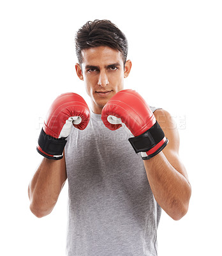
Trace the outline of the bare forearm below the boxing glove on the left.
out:
[[[29,184],[30,209],[38,218],[49,214],[67,179],[64,157],[61,160],[43,158]]]

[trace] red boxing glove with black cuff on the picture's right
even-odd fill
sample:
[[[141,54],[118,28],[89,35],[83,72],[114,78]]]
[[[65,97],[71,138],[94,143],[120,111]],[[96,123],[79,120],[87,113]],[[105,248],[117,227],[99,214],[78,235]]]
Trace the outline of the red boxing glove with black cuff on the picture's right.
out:
[[[129,142],[142,159],[156,156],[168,140],[145,100],[134,90],[122,90],[105,104],[101,119],[110,130],[126,125],[133,138]]]

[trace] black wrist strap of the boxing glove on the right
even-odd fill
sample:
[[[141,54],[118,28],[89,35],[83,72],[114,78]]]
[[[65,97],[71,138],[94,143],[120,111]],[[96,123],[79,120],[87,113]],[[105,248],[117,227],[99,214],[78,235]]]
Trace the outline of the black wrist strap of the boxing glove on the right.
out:
[[[163,140],[163,138],[165,138],[165,134],[156,121],[156,123],[152,125],[149,130],[145,131],[139,136],[129,138],[128,140],[134,148],[135,152],[138,153],[149,151],[161,140]]]

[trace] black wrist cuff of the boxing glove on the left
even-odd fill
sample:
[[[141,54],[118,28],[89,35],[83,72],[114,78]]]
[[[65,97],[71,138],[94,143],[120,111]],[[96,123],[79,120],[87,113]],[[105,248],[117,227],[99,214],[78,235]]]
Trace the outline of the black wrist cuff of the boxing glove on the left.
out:
[[[40,136],[38,138],[38,145],[43,150],[44,154],[38,148],[37,151],[42,155],[47,157],[48,159],[61,159],[63,158],[63,150],[66,145],[66,138],[54,138],[48,134],[46,134],[43,129],[41,129]]]

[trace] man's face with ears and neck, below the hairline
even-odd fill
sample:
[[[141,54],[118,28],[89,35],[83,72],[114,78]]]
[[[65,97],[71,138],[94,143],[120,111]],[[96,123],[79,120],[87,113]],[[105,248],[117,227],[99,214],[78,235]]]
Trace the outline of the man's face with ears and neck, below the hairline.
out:
[[[85,83],[93,112],[101,114],[108,100],[123,89],[131,61],[126,61],[124,67],[121,52],[107,46],[84,49],[82,57],[82,68],[78,63],[75,65],[77,76]]]

